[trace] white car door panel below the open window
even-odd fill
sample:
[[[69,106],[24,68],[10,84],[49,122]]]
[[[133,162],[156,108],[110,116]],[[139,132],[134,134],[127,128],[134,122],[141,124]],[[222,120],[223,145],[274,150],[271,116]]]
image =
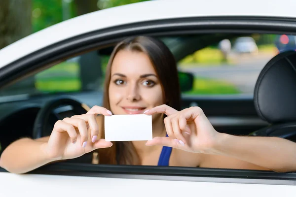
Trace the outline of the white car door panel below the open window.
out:
[[[1,197],[293,197],[296,192],[296,186],[288,185],[17,175],[5,172],[0,172],[0,177]]]

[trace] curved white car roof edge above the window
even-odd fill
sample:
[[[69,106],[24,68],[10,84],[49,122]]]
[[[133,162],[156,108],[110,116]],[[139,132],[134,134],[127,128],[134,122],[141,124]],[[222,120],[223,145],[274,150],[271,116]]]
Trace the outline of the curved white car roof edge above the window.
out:
[[[203,16],[296,18],[295,7],[296,2],[291,0],[150,0],[112,7],[63,21],[4,47],[0,50],[0,68],[67,38],[114,26]]]

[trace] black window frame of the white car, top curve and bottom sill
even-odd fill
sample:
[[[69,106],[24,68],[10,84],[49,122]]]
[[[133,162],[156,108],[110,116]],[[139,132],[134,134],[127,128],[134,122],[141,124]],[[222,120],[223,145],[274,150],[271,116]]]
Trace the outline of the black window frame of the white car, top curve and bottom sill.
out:
[[[90,32],[52,44],[0,68],[0,87],[28,74],[54,66],[81,53],[100,47],[107,47],[131,35],[180,35],[188,33],[292,33],[296,34],[296,19],[269,17],[200,17],[169,19],[128,24]],[[296,173],[262,172],[259,170],[161,167],[161,166],[121,166],[96,164],[48,164],[29,173],[67,174],[78,176],[128,176],[143,178],[143,173],[151,179],[172,178],[174,180],[214,181],[231,183],[262,183],[296,185]],[[104,168],[105,167],[105,168]],[[64,171],[66,169],[66,171]],[[124,170],[123,170],[124,169]],[[137,169],[133,171],[133,169]],[[187,171],[186,171],[187,170]],[[3,168],[0,171],[5,172]],[[197,173],[198,172],[198,173]],[[239,181],[240,180],[240,181]],[[255,181],[257,180],[257,181]],[[272,180],[272,181],[270,181]]]

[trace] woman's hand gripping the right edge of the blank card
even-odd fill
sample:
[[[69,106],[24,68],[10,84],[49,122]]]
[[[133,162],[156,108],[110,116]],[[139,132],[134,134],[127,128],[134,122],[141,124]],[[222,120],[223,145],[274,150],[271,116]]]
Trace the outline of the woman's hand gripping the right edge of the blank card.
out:
[[[154,137],[146,145],[162,145],[194,153],[211,153],[219,138],[202,109],[190,107],[177,111],[167,105],[150,109],[145,114],[164,113],[164,124],[169,137]]]

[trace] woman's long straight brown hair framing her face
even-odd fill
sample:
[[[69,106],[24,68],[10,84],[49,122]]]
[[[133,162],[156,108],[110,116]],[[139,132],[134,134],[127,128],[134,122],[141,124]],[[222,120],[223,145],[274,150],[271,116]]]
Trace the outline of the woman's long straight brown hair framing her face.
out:
[[[103,101],[103,106],[105,108],[110,109],[109,85],[111,80],[111,65],[115,55],[120,50],[137,51],[147,54],[162,84],[165,104],[177,110],[181,109],[181,93],[175,58],[163,42],[148,36],[130,37],[115,46],[106,70]],[[100,122],[102,138],[105,138],[104,116],[102,116]],[[97,150],[99,164],[141,165],[139,156],[132,142],[112,143],[113,146],[110,148]]]

